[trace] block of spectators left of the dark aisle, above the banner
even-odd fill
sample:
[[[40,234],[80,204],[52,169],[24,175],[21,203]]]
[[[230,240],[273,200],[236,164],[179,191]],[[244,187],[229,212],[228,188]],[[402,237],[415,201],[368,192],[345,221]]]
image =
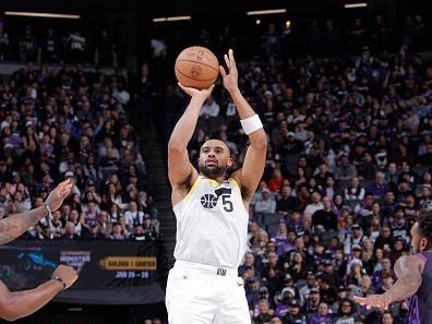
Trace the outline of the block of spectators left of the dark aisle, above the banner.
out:
[[[38,207],[64,179],[73,193],[23,238],[155,240],[157,209],[121,69],[26,69],[0,81],[0,218]]]

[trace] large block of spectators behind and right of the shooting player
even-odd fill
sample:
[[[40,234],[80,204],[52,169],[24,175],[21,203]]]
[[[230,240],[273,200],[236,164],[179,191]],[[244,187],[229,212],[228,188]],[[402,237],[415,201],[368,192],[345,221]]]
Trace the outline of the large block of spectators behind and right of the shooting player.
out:
[[[383,312],[352,301],[392,287],[432,202],[432,64],[403,45],[240,64],[269,143],[239,268],[254,324],[408,324],[406,301]],[[247,136],[221,86],[202,109],[191,161],[213,137],[241,167]]]

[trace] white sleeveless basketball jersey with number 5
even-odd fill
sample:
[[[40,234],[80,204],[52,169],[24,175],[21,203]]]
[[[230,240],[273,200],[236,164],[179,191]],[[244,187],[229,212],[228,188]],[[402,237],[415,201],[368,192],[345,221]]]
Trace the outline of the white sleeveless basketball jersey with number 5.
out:
[[[199,176],[173,206],[176,260],[237,268],[245,252],[249,213],[233,179],[218,183]]]

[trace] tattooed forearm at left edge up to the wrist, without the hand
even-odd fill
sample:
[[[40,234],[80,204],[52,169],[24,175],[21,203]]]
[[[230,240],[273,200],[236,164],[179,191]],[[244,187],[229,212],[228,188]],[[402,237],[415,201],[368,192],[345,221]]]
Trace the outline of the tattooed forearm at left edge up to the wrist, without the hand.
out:
[[[45,207],[12,215],[0,220],[0,244],[5,244],[25,232],[29,227],[47,216]]]

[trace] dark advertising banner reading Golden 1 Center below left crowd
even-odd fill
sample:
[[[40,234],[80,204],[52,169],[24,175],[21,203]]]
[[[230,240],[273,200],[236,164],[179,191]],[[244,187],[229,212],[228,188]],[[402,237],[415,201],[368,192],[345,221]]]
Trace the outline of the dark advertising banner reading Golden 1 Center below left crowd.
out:
[[[163,291],[155,287],[166,269],[158,268],[158,247],[157,241],[16,240],[0,245],[0,279],[13,291],[31,289],[47,281],[59,264],[67,264],[77,271],[79,279],[59,299],[73,296],[69,302],[92,299],[92,303],[97,303],[100,299],[117,303],[116,296],[106,296],[110,291],[115,295],[115,290],[121,291],[119,303],[140,303],[143,293],[152,290],[153,295],[157,290],[157,299],[161,299]],[[85,291],[85,296],[80,291]],[[144,299],[152,302],[153,298]]]

